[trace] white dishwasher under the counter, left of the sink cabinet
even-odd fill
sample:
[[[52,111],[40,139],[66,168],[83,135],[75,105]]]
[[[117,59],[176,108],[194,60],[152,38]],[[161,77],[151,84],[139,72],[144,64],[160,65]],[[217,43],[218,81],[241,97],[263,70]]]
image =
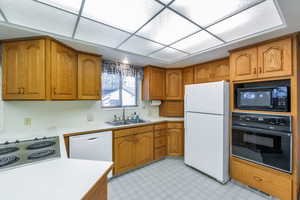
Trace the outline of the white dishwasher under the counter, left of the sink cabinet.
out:
[[[112,161],[112,148],[111,131],[70,137],[70,158]]]

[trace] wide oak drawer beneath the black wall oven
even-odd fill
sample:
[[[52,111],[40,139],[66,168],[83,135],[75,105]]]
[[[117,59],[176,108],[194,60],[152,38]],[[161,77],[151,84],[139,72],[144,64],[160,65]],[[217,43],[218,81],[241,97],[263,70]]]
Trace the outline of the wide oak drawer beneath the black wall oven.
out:
[[[292,181],[288,174],[262,166],[252,166],[232,160],[231,177],[282,200],[292,197]]]

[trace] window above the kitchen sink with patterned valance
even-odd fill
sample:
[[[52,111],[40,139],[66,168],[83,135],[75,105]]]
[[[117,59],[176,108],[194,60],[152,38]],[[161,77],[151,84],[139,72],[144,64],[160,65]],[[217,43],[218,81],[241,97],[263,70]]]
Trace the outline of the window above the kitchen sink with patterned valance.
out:
[[[137,106],[137,77],[102,73],[102,107]]]

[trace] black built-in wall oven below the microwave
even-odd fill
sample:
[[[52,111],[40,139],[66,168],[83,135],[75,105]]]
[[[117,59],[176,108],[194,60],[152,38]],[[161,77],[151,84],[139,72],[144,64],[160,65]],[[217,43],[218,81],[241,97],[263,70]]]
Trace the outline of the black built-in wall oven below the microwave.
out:
[[[232,155],[292,173],[291,117],[233,113]]]

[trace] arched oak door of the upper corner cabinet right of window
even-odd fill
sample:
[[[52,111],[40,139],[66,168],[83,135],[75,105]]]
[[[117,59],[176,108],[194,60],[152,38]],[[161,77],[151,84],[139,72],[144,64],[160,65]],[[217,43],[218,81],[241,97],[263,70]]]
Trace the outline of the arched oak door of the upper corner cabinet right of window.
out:
[[[182,70],[166,71],[166,99],[182,100]]]

